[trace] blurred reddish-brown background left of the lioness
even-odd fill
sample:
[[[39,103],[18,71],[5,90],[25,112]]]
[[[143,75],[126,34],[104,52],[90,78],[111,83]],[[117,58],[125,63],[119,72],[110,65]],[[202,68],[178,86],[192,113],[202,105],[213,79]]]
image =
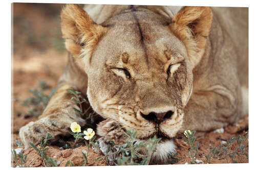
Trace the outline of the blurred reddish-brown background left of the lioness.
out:
[[[43,108],[65,69],[68,55],[60,30],[62,7],[62,4],[12,4],[13,147],[15,140],[19,141],[19,128],[38,116],[31,114],[31,108],[24,102],[35,109]]]

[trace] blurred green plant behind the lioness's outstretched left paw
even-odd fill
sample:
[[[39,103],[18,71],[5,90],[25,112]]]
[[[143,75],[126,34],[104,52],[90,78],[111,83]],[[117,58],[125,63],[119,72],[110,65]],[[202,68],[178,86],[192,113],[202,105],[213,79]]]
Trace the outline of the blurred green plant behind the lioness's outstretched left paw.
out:
[[[48,101],[56,90],[55,88],[53,88],[51,93],[47,95],[45,94],[45,91],[50,89],[50,86],[44,81],[39,81],[38,86],[39,90],[29,89],[29,92],[33,95],[22,102],[22,105],[28,107],[28,113],[34,117],[38,117],[42,113],[42,111],[45,110]]]

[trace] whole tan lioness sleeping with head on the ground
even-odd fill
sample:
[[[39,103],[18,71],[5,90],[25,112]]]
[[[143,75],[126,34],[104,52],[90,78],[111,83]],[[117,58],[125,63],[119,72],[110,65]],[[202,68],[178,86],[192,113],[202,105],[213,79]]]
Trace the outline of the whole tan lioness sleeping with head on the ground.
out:
[[[87,11],[87,12],[86,12]],[[184,130],[206,132],[248,114],[248,9],[67,5],[61,31],[69,62],[44,113],[19,131],[29,148],[47,133],[85,126],[69,89],[104,120],[97,134],[121,143],[161,137],[153,159]]]

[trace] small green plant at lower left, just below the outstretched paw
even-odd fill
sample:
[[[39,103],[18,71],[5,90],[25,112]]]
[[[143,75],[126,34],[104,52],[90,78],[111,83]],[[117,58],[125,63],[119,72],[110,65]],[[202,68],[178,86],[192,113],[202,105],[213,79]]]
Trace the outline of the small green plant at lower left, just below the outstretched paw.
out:
[[[49,149],[46,148],[46,145],[50,145],[49,140],[51,139],[54,139],[54,137],[50,133],[47,133],[46,137],[42,137],[39,148],[37,148],[32,142],[29,143],[31,147],[38,152],[46,167],[57,166],[57,160],[53,160],[51,157],[46,155],[46,151]]]

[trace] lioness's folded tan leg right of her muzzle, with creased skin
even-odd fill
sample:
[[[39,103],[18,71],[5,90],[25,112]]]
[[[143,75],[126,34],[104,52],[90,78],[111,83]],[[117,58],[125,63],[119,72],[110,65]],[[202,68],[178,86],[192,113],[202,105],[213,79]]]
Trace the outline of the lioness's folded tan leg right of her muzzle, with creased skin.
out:
[[[209,91],[195,92],[184,109],[183,127],[180,130],[206,132],[223,128],[245,115],[241,91],[232,93],[222,86]]]

